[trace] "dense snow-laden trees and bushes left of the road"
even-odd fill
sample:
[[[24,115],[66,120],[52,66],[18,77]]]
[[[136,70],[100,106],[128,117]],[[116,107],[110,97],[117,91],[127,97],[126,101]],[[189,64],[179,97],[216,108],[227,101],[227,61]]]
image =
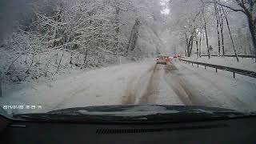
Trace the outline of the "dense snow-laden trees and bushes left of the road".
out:
[[[158,1],[23,0],[4,4],[18,9],[12,14],[6,8],[10,18],[4,20],[12,26],[2,25],[5,34],[1,35],[1,70],[14,82],[70,67],[115,64],[121,57],[135,61],[153,56],[161,46]]]

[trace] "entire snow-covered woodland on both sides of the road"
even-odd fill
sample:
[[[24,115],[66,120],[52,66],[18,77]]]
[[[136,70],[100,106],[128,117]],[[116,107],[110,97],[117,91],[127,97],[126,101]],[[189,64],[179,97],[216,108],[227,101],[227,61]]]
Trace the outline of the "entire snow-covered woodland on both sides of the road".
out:
[[[158,53],[255,54],[255,0],[2,2],[2,78],[21,82]],[[168,10],[168,13],[164,13]],[[238,60],[238,59],[237,59]]]

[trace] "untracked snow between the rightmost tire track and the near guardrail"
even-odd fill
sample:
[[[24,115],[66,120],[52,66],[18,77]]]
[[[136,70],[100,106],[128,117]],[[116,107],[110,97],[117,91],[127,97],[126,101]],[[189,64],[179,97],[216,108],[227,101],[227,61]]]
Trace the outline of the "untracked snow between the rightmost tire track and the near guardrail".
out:
[[[219,70],[216,73],[182,62],[176,62],[175,65],[203,105],[241,111],[256,110],[255,78],[239,75],[233,78],[226,71]]]

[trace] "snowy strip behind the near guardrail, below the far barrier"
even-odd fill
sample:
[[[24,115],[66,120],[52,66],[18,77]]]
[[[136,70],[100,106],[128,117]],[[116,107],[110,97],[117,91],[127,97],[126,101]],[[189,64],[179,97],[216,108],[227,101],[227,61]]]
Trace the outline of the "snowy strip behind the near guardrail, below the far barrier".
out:
[[[183,58],[186,60],[194,61],[194,62],[204,62],[210,63],[219,66],[230,66],[242,70],[251,70],[256,71],[256,62],[255,59],[252,58],[239,58],[239,62],[237,62],[236,58],[222,58],[222,57],[202,57],[197,58],[196,56],[190,58]]]

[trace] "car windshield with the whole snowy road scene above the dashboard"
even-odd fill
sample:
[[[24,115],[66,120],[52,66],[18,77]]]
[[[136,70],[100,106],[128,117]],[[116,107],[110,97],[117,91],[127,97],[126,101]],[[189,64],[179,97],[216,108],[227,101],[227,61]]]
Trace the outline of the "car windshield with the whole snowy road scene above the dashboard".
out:
[[[164,105],[254,112],[255,3],[3,0],[1,109],[14,115]],[[76,113],[92,114],[85,111]]]

